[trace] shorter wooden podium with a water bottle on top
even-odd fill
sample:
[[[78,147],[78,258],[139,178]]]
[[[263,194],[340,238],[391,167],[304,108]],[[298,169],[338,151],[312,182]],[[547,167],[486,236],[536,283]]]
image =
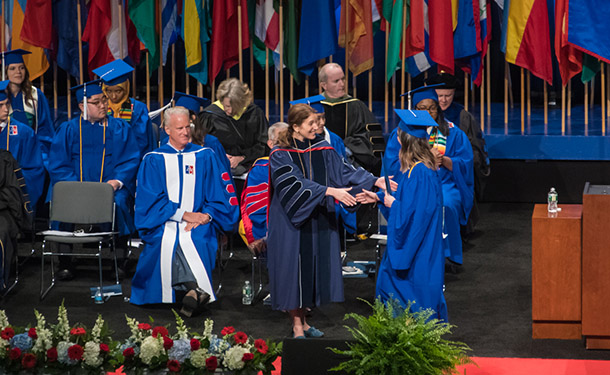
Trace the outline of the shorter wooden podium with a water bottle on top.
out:
[[[532,337],[581,338],[581,205],[532,215]],[[609,211],[610,212],[610,211]],[[610,233],[610,228],[607,230]],[[610,311],[610,310],[607,310]]]

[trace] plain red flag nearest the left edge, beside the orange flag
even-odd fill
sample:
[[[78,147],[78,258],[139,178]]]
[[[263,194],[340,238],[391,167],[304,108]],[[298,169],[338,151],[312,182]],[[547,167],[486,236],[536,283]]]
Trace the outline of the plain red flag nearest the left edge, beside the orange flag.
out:
[[[51,49],[53,44],[52,14],[52,0],[28,0],[21,28],[21,39],[33,46]]]

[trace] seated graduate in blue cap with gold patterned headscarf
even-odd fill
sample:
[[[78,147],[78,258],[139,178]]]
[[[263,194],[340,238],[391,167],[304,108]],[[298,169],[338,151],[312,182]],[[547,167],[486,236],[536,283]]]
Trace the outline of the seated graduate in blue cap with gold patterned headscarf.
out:
[[[148,117],[146,104],[129,97],[129,76],[133,68],[123,60],[93,70],[103,82],[102,91],[108,98],[108,117],[125,120],[131,126],[140,149],[140,157],[157,148],[157,134]]]

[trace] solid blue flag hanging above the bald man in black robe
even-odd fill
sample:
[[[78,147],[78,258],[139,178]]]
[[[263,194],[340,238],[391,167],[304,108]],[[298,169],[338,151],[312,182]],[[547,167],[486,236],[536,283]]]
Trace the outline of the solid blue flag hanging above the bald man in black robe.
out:
[[[311,75],[320,59],[339,49],[335,9],[328,0],[309,0],[301,8],[299,32],[299,69]]]

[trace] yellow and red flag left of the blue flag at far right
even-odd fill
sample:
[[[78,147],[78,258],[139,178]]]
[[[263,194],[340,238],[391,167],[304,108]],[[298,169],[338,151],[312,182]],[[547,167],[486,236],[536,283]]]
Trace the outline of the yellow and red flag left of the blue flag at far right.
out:
[[[506,61],[529,70],[552,85],[551,39],[546,0],[511,1],[506,27]]]

